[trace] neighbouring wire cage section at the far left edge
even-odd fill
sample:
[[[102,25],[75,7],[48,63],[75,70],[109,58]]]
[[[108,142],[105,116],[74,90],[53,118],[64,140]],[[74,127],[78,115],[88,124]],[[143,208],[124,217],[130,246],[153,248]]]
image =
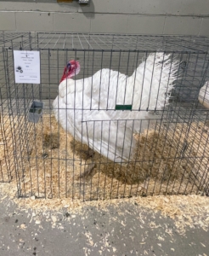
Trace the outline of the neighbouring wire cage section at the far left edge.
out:
[[[26,37],[26,38],[24,38]],[[2,157],[0,160],[0,181],[9,182],[14,178],[15,160],[14,143],[17,141],[8,140],[10,137],[11,125],[14,125],[10,106],[14,105],[18,97],[14,96],[14,77],[9,73],[12,65],[12,47],[20,41],[28,40],[28,33],[1,32],[0,33],[0,88],[1,88],[1,145]],[[24,38],[24,39],[23,39]],[[15,43],[16,42],[16,43]],[[9,50],[10,49],[10,50]],[[13,103],[12,103],[13,102]],[[15,108],[17,111],[17,108]],[[15,142],[16,141],[16,142]]]

